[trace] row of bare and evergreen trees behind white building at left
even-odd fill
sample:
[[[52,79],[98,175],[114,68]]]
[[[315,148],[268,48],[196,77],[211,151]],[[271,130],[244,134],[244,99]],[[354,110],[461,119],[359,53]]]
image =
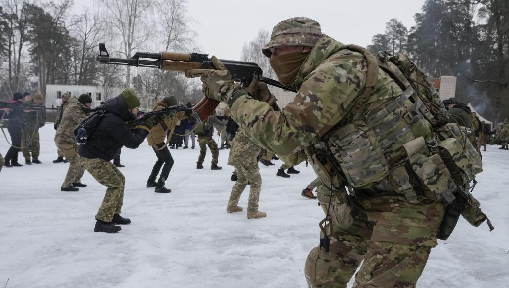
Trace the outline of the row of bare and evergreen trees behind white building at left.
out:
[[[105,97],[115,96],[113,87],[133,87],[154,99],[201,98],[196,81],[175,72],[142,68],[138,73],[95,60],[100,42],[112,57],[130,57],[137,50],[195,50],[187,0],[98,0],[94,11],[79,14],[71,13],[73,6],[73,0],[0,0],[0,98],[17,91],[46,94],[49,84],[100,86]]]

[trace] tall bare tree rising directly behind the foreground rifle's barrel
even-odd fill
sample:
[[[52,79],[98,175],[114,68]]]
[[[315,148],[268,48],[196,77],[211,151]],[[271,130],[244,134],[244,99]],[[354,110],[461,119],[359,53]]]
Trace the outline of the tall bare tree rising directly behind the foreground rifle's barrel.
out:
[[[149,16],[155,0],[100,0],[104,7],[103,21],[110,34],[118,38],[122,49],[118,52],[130,57],[134,50],[144,45],[155,33]],[[126,85],[130,87],[131,69],[127,66]]]

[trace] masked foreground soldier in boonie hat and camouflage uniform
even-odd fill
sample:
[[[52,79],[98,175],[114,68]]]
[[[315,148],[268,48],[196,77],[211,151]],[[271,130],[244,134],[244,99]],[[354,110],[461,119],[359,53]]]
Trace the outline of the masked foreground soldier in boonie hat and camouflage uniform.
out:
[[[376,60],[368,70],[368,57],[373,59],[373,55],[322,34],[312,19],[296,17],[277,24],[263,53],[270,58],[279,81],[298,90],[282,111],[273,111],[239,89],[215,56],[216,70],[191,70],[186,76],[201,76],[204,94],[227,102],[232,117],[254,143],[289,164],[297,165],[307,157],[313,166],[320,179],[318,198],[330,222],[321,227],[324,244],[314,248],[306,261],[309,286],[346,287],[362,262],[355,275],[356,288],[415,287],[437,245],[444,207],[440,201],[416,197],[422,195],[423,188],[408,181],[408,177],[417,176],[403,166],[389,173],[380,170],[385,166],[365,157],[381,149],[377,138],[370,136],[375,133],[368,130],[371,127],[379,134],[385,131],[384,152],[401,151],[397,149],[412,139],[430,139],[428,120],[414,118],[413,129],[408,129],[397,112],[402,104],[393,104],[402,101],[405,107],[412,107],[410,93],[403,93],[388,73],[378,69]],[[339,159],[343,155],[335,151],[348,153],[341,159],[344,162]],[[423,163],[432,165],[425,148],[415,148],[412,153],[415,169]],[[348,157],[349,166],[340,167]],[[365,161],[370,166],[364,167]],[[418,175],[428,176],[441,177]],[[444,185],[440,188],[446,188],[445,177],[440,178]],[[345,186],[353,184],[357,188],[348,194]]]

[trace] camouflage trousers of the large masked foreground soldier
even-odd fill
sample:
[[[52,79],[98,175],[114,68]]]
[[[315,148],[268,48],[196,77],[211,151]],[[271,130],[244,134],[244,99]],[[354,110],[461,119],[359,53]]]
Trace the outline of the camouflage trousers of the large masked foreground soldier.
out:
[[[319,199],[322,208],[323,201],[329,201]],[[319,245],[306,260],[309,287],[346,287],[361,262],[353,288],[415,287],[436,245],[434,235],[443,218],[443,207],[438,207],[440,203],[405,207],[408,202],[392,200],[356,203],[351,212],[353,223],[348,228],[327,225],[329,252]],[[337,211],[334,206],[332,202],[330,211]],[[331,214],[335,217],[334,212]]]

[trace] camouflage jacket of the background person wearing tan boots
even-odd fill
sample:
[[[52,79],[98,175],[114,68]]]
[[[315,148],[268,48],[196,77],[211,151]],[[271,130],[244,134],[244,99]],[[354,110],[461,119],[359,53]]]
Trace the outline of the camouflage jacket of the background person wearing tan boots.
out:
[[[262,147],[254,144],[241,130],[239,130],[235,134],[232,146],[230,147],[228,165],[236,166],[242,162],[257,163],[257,157],[260,150],[262,150]]]

